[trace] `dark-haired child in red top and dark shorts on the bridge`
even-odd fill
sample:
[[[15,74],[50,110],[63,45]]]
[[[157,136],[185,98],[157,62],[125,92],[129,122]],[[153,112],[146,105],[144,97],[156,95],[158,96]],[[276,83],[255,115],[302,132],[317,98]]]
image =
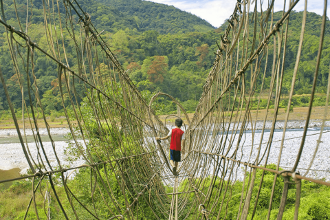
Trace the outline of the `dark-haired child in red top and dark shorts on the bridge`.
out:
[[[173,166],[173,175],[177,175],[177,165],[181,161],[181,151],[184,153],[185,133],[180,128],[183,121],[181,118],[175,120],[175,129],[170,130],[166,137],[156,137],[156,140],[166,140],[170,138],[170,165]],[[182,142],[181,142],[182,140]]]

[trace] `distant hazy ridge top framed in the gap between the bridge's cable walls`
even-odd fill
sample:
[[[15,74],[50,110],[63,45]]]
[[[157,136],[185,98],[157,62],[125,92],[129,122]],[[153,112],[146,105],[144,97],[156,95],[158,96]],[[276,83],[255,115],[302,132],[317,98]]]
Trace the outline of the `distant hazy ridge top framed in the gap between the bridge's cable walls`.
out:
[[[174,6],[142,0],[96,0],[115,8],[124,19],[135,21],[137,30],[156,30],[159,34],[208,32],[215,28],[194,14]]]

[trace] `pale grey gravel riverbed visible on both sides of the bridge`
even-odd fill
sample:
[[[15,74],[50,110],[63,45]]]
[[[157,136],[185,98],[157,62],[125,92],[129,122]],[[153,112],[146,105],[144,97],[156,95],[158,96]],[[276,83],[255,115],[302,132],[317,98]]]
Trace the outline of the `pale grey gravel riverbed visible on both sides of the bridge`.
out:
[[[307,133],[307,138],[305,142],[305,147],[303,151],[303,155],[300,159],[300,163],[298,165],[298,170],[300,173],[305,173],[306,169],[308,168],[311,158],[314,155],[314,151],[316,148],[316,143],[318,140],[318,134],[320,129],[313,129],[320,127],[322,125],[322,120],[311,120],[309,123],[309,132]],[[265,129],[271,129],[272,122],[267,121],[265,124]],[[276,122],[276,129],[283,129],[284,121],[278,121]],[[330,122],[326,122],[325,126],[327,126],[328,130],[330,127]],[[263,122],[257,122],[256,123],[256,129],[262,129]],[[287,129],[295,129],[295,131],[287,131],[285,135],[285,142],[284,142],[284,148],[283,148],[283,155],[281,158],[281,167],[288,169],[292,168],[294,165],[296,155],[298,153],[298,148],[300,146],[300,140],[301,135],[303,134],[303,128],[305,127],[305,121],[304,120],[295,120],[295,121],[289,121],[287,124]],[[247,129],[251,129],[250,124],[248,124]],[[47,135],[46,129],[40,129],[39,132],[41,135],[45,136]],[[23,131],[21,131],[23,134]],[[26,135],[32,135],[32,131],[27,129],[25,131]],[[69,133],[69,129],[63,129],[63,128],[56,128],[51,129],[52,135],[65,135],[66,133]],[[269,132],[265,132],[265,135],[263,137],[263,142],[267,141],[267,138],[269,137]],[[261,133],[256,133],[254,137],[254,145],[256,146],[256,140],[259,143],[260,138],[259,135]],[[273,144],[270,151],[270,159],[268,160],[268,164],[270,163],[277,163],[278,160],[278,153],[279,153],[279,147],[281,146],[281,137],[283,135],[283,131],[277,131],[274,132],[274,138],[273,138]],[[0,138],[15,138],[17,137],[17,131],[15,129],[3,129],[0,130]],[[245,142],[242,151],[239,151],[239,157],[241,157],[241,161],[244,162],[251,162],[254,163],[254,159],[256,157],[257,150],[254,149],[250,155],[251,151],[251,133],[245,134]],[[330,181],[330,133],[329,131],[323,133],[322,135],[322,142],[320,143],[320,146],[318,148],[318,152],[316,154],[316,157],[314,159],[314,163],[311,166],[311,171],[307,174],[307,177],[313,177],[318,179],[325,179],[326,181]],[[243,143],[243,142],[242,142]],[[36,144],[34,142],[28,144],[30,148],[30,153],[32,157],[34,158],[35,162],[38,163],[38,150],[36,147]],[[52,166],[58,166],[56,155],[54,154],[53,146],[51,142],[43,142],[43,146],[45,148],[45,152],[47,153],[48,160],[50,161],[50,164]],[[263,144],[261,147],[261,152],[265,151],[266,144]],[[78,161],[71,164],[69,161],[67,161],[67,158],[64,154],[65,148],[67,147],[67,142],[65,141],[56,141],[55,142],[55,148],[58,159],[61,161],[61,165],[65,166],[80,166],[81,164],[84,164],[83,159],[78,159]],[[41,149],[39,150],[41,151]],[[23,154],[22,146],[20,143],[5,143],[0,144],[0,170],[9,170],[12,168],[20,168],[21,173],[26,173],[26,170],[28,169],[28,163],[26,162],[25,156]],[[43,155],[43,153],[41,153]],[[230,153],[229,153],[230,155]],[[250,158],[250,160],[249,160]],[[43,158],[43,161],[45,159]],[[263,161],[261,162],[261,165],[263,164]],[[243,177],[243,170],[239,169],[237,170],[238,178],[241,179]]]

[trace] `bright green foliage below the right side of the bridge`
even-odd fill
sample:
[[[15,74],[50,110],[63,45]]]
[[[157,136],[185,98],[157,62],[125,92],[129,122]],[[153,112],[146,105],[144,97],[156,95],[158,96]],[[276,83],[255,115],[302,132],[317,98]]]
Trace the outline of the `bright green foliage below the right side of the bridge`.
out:
[[[274,169],[276,166],[274,164],[270,164],[267,168]],[[250,173],[247,174],[249,177]],[[274,182],[274,173],[265,171],[263,175],[263,170],[257,170],[256,179],[254,181],[254,187],[252,190],[252,199],[250,203],[248,219],[252,218],[252,211],[254,209],[254,203],[256,202],[256,196],[258,193],[258,189],[261,183],[261,177],[263,176],[263,184],[261,186],[261,191],[259,194],[258,203],[256,206],[256,213],[254,214],[254,219],[263,220],[267,219],[268,207],[270,203],[270,197],[272,193],[272,185]],[[206,195],[208,192],[208,188],[210,188],[212,178],[209,177],[205,180],[204,183],[204,191],[203,193]],[[249,179],[245,180],[244,187],[244,195],[248,190],[247,185],[249,183]],[[180,187],[183,188],[185,184],[188,184],[188,180],[184,181]],[[275,220],[278,214],[278,208],[281,203],[281,197],[283,192],[283,177],[277,177],[276,184],[274,188],[274,197],[272,201],[272,210],[270,219]],[[221,188],[221,181],[217,179],[214,183],[214,191],[216,188]],[[227,192],[224,196],[225,188],[227,188]],[[237,219],[237,214],[239,212],[239,204],[241,201],[242,194],[242,181],[235,181],[234,184],[232,182],[223,181],[221,195],[213,195],[210,197],[210,204],[216,201],[218,198],[220,202],[217,204],[217,207],[213,210],[217,210],[219,212],[221,207],[221,200],[224,199],[223,206],[221,212],[219,213],[220,219]],[[195,197],[193,195],[190,196],[190,201],[193,201]],[[289,184],[289,190],[287,195],[287,203],[285,205],[285,212],[283,215],[283,219],[294,219],[294,209],[296,202],[296,185]],[[187,207],[187,209],[190,207]],[[241,209],[242,211],[242,209]],[[198,213],[198,211],[197,211]],[[193,219],[192,216],[195,212],[190,212],[190,216],[188,219]],[[300,208],[299,208],[299,218],[298,219],[330,219],[330,188],[327,186],[322,186],[320,184],[314,184],[309,181],[302,181],[302,189],[301,189],[301,199],[300,199]]]

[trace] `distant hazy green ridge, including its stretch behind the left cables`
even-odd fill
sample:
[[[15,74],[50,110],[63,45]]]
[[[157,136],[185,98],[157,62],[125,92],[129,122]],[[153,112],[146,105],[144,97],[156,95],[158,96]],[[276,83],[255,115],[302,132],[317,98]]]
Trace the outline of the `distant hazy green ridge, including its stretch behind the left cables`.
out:
[[[32,23],[43,22],[43,0],[34,0]],[[98,30],[118,32],[129,28],[137,32],[155,30],[159,34],[208,32],[214,27],[207,21],[184,12],[170,5],[141,0],[84,0],[78,1],[81,8],[91,15],[91,21]],[[25,21],[26,1],[16,0],[19,17]],[[30,3],[31,4],[31,3]],[[47,2],[45,3],[46,6]],[[3,1],[6,19],[16,19],[14,3],[10,0]],[[52,3],[50,5],[52,8]],[[57,7],[57,6],[56,6]],[[55,9],[56,10],[56,9]],[[60,4],[60,10],[65,17],[65,8]],[[76,15],[74,14],[74,17]],[[1,31],[1,30],[0,30]]]

